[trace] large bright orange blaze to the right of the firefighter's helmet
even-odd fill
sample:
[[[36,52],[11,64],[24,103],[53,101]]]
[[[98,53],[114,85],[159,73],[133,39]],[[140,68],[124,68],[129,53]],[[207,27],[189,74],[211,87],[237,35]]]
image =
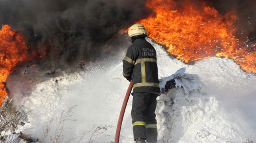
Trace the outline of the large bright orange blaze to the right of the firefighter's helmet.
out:
[[[235,37],[235,11],[222,16],[204,2],[148,0],[154,15],[138,21],[150,38],[166,46],[167,51],[188,63],[211,56],[233,59],[247,72],[256,73],[256,50],[244,46]]]

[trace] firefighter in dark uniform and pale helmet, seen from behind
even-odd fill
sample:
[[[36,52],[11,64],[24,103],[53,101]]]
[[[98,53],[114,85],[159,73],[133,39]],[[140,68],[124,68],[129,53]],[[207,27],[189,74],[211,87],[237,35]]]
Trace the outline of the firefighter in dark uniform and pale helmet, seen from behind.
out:
[[[157,142],[155,108],[160,95],[157,54],[146,41],[147,31],[142,24],[134,24],[128,30],[132,45],[123,59],[123,76],[133,80],[133,136],[136,143]],[[147,142],[146,142],[147,141]]]

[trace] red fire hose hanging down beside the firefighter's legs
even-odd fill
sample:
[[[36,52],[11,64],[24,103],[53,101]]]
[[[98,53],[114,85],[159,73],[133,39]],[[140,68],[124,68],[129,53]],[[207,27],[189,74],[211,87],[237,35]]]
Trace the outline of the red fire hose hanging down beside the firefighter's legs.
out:
[[[116,127],[115,143],[119,143],[120,131],[121,131],[121,126],[122,126],[122,122],[123,122],[123,115],[124,115],[125,108],[126,108],[126,105],[127,105],[127,102],[128,102],[129,97],[130,97],[132,89],[133,89],[133,81],[130,82],[128,90],[127,90],[126,95],[125,95],[125,98],[123,100],[123,105],[122,105],[122,108],[121,108],[121,112],[120,112],[119,119],[118,119],[118,124],[117,124],[117,127]]]

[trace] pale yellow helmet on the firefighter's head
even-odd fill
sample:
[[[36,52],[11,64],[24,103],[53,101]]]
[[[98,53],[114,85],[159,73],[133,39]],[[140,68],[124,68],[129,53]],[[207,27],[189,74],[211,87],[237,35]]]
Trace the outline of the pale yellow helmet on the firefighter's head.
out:
[[[128,30],[128,35],[131,38],[145,38],[148,33],[142,24],[133,24]]]

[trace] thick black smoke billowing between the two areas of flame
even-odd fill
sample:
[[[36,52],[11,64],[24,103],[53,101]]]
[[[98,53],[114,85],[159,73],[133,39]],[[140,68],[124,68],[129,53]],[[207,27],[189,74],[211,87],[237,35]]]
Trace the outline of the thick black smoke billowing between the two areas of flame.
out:
[[[146,0],[0,0],[0,24],[27,39],[31,51],[47,51],[51,68],[93,61],[118,31],[152,11]]]

